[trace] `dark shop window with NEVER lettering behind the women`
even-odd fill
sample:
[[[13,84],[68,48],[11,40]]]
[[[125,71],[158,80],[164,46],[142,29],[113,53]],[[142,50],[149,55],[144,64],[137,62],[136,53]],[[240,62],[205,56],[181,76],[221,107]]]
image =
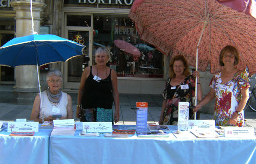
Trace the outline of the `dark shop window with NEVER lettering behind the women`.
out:
[[[111,52],[109,66],[117,72],[118,77],[163,78],[163,54],[155,46],[140,40],[135,24],[128,15],[94,14],[93,23],[93,52],[99,46],[108,48]],[[131,43],[139,49],[140,55],[120,49],[115,40]]]

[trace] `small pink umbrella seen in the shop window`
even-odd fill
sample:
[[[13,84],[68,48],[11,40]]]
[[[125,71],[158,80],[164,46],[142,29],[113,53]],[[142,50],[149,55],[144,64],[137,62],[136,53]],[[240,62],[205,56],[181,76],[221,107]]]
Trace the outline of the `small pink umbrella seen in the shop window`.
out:
[[[140,57],[141,53],[139,49],[137,49],[136,46],[134,46],[133,44],[123,40],[114,40],[114,43],[119,49],[123,50],[124,52],[131,54],[135,57]]]

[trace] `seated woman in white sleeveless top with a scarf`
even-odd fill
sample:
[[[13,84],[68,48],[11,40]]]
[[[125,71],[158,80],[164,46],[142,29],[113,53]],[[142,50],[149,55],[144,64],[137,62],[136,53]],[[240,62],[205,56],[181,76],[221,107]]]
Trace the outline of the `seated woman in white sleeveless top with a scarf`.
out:
[[[44,121],[56,120],[57,118],[54,118],[53,115],[61,115],[59,119],[73,119],[71,96],[60,89],[61,72],[57,69],[49,71],[46,78],[48,88],[41,92],[41,99],[39,93],[35,97],[30,120],[42,123],[42,111],[44,111]]]

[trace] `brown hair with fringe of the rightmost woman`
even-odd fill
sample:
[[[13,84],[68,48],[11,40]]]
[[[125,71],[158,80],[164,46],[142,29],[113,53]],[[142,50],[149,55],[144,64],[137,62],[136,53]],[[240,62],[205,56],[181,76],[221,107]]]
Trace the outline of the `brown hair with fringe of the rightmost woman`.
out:
[[[223,55],[226,54],[226,53],[231,53],[234,55],[234,65],[237,65],[239,63],[239,52],[238,52],[238,49],[235,48],[234,46],[232,45],[227,45],[225,46],[222,50],[221,50],[221,53],[220,53],[220,57],[219,57],[219,63],[221,66],[224,66],[224,63],[223,63]]]

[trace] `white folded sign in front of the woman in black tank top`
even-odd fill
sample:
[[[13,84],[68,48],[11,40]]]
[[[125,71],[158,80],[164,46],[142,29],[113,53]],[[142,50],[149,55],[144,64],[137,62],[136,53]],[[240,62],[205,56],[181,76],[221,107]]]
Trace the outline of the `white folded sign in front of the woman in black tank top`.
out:
[[[82,131],[100,133],[112,132],[112,122],[83,122]]]

